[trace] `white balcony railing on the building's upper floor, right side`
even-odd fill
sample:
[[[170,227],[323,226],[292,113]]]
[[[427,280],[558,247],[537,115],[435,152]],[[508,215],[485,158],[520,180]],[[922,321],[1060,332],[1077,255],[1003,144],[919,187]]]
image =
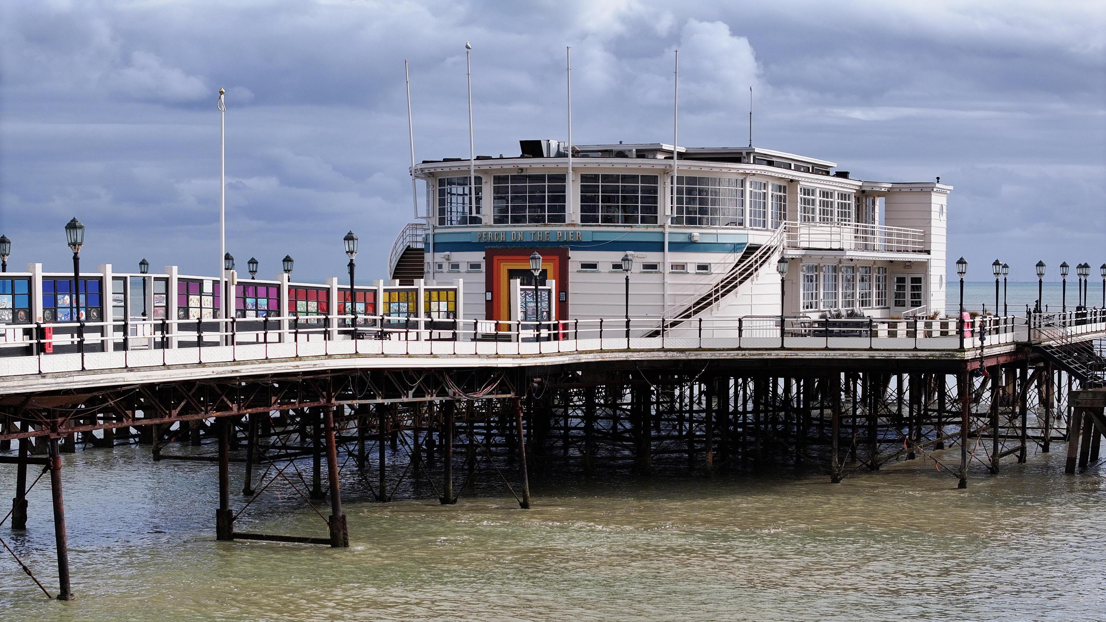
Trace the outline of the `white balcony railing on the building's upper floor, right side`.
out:
[[[831,222],[784,224],[787,248],[813,250],[868,250],[879,252],[924,252],[921,229]]]

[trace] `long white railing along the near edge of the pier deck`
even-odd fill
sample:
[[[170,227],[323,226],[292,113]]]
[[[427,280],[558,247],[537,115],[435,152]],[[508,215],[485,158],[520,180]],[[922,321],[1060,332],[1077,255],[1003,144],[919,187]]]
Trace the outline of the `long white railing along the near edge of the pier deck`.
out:
[[[626,350],[964,352],[1025,338],[1025,320],[1012,315],[968,320],[697,318],[675,326],[669,319],[661,322],[659,331],[655,318],[493,322],[357,315],[356,326],[352,325],[354,319],[322,315],[131,321],[127,325],[136,326],[134,336],[129,331],[115,332],[123,322],[38,323],[21,329],[24,339],[0,349],[0,384],[36,374],[351,354],[427,355],[432,357],[426,364],[448,365],[451,363],[442,356]],[[1106,323],[1093,325],[1106,332]]]

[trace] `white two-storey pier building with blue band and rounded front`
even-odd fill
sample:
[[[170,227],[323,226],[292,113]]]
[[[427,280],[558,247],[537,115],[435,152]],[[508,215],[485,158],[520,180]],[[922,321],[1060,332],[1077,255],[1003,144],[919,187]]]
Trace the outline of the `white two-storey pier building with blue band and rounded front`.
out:
[[[635,319],[942,315],[952,187],[939,179],[866,182],[759,147],[521,147],[416,165],[425,222],[396,239],[390,278],[460,278],[465,319],[533,320],[536,252],[540,298],[555,301],[542,320],[618,318],[628,253]]]

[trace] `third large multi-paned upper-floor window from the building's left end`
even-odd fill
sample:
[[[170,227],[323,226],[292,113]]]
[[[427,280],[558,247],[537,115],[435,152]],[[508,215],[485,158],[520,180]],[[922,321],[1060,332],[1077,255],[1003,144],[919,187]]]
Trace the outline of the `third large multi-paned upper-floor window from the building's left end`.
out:
[[[580,221],[656,225],[658,179],[656,175],[581,175]]]

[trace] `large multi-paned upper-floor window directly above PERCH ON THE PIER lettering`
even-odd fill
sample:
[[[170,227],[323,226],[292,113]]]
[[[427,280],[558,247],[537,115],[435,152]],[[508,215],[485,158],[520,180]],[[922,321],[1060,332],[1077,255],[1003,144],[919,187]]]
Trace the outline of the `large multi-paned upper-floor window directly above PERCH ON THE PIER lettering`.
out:
[[[543,225],[564,222],[564,174],[495,175],[492,222]]]

